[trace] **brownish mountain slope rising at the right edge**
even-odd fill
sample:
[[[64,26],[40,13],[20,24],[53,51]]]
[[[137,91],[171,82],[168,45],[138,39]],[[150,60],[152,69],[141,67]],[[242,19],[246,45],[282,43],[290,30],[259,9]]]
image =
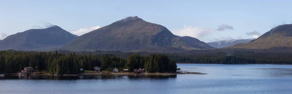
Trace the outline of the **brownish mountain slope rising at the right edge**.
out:
[[[292,24],[279,25],[256,40],[230,48],[271,49],[292,47]]]

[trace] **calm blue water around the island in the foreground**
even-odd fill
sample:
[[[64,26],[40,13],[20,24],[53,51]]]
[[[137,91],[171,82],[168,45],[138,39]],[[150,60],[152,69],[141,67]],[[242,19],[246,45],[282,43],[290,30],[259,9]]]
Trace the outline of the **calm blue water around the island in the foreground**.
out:
[[[178,64],[207,75],[0,78],[0,94],[292,94],[292,65]]]

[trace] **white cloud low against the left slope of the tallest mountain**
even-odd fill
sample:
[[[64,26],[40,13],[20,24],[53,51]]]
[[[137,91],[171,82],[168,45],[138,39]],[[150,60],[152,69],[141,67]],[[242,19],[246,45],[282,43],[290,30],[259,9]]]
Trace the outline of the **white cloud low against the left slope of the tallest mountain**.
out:
[[[80,36],[80,35],[83,35],[85,33],[90,32],[90,31],[97,30],[99,28],[100,28],[100,26],[93,26],[93,27],[81,28],[81,29],[78,29],[78,30],[70,31],[70,32],[75,34],[75,35]]]

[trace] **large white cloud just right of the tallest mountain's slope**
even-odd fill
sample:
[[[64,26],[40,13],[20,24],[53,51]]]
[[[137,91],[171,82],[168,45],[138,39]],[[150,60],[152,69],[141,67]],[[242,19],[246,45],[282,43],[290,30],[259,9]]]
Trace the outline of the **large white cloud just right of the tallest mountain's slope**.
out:
[[[184,26],[183,29],[172,31],[172,33],[179,36],[191,36],[191,37],[200,39],[216,31],[216,29],[192,27],[192,26],[186,26],[186,25],[183,25],[183,26]]]

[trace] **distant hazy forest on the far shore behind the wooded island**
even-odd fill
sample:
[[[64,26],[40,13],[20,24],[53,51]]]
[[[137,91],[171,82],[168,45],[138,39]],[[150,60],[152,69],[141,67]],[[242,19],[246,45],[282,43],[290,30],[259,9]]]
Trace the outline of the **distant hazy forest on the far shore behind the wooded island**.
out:
[[[70,51],[61,51],[70,53]],[[121,52],[121,51],[80,51],[82,54],[108,54],[128,58],[131,54],[149,56],[163,54],[177,63],[214,63],[214,64],[292,64],[292,50],[251,50],[251,49],[211,49],[190,50],[180,53]]]

